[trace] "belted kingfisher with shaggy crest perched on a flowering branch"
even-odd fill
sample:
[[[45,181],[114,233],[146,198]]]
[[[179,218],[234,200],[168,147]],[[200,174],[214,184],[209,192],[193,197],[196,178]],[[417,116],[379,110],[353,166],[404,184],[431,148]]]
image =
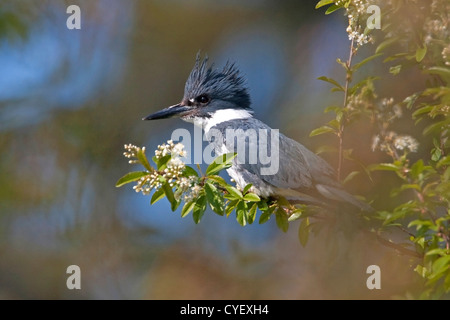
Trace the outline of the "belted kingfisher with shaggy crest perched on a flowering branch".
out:
[[[181,102],[150,114],[143,120],[179,117],[193,122],[203,128],[217,155],[237,152],[239,156],[236,149],[238,146],[234,143],[234,150],[229,150],[230,141],[226,141],[225,134],[227,130],[240,130],[241,133],[253,130],[257,134],[265,131],[269,135],[275,130],[253,117],[250,95],[244,83],[245,80],[234,63],[228,62],[222,70],[215,69],[213,66],[208,67],[207,57],[202,60],[197,54]],[[212,134],[213,132],[222,134]],[[343,189],[336,180],[333,168],[325,160],[283,134],[276,137],[278,170],[273,174],[262,174],[263,164],[260,160],[256,163],[242,163],[235,158],[227,172],[238,187],[242,189],[251,183],[252,191],[262,197],[283,196],[292,203],[330,207],[336,202],[344,202],[363,211],[373,211],[371,206]],[[261,141],[261,137],[258,138]],[[247,154],[259,153],[260,143],[244,138],[244,144]],[[271,153],[274,152],[270,150],[270,146],[264,147],[268,147]]]

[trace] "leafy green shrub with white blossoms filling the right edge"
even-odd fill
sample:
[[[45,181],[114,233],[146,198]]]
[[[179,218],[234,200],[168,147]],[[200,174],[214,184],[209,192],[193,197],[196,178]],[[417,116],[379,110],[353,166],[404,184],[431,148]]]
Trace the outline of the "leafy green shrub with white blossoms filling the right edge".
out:
[[[374,163],[351,172],[344,182],[361,171],[367,173],[367,179],[371,179],[370,173],[376,171],[396,174],[397,183],[390,188],[391,197],[398,199],[395,207],[365,218],[381,222],[375,227],[372,225],[378,237],[389,236],[392,230],[402,230],[407,243],[380,239],[381,243],[415,257],[413,269],[425,280],[423,290],[416,297],[442,298],[450,292],[450,3],[445,0],[380,1],[377,4],[383,12],[380,17],[383,27],[376,34],[377,48],[372,56],[354,65],[352,57],[363,45],[359,37],[365,37],[371,31],[361,27],[370,15],[366,11],[368,3],[322,0],[317,7],[329,4],[332,6],[326,13],[344,9],[349,17],[350,58],[346,62],[338,59],[346,72],[345,84],[327,77],[319,79],[331,83],[332,91],[343,92],[345,97],[342,106],[326,109],[326,112],[335,113],[336,117],[325,126],[313,130],[311,135],[333,133],[338,137],[339,172],[344,155],[350,155],[352,151],[343,147],[344,133],[353,134],[351,124],[354,122],[370,121],[368,125],[373,126],[376,132],[372,150],[385,153],[390,161]],[[360,26],[356,35],[352,34],[354,20]],[[419,69],[427,75],[424,85],[396,104],[393,98],[380,98],[375,91],[375,80],[390,79],[371,75],[353,85],[354,73],[381,55],[394,76],[407,69]],[[395,95],[395,92],[391,94]],[[396,131],[397,121],[405,109],[413,111],[411,126],[432,120],[422,133],[423,138],[429,141],[422,142],[421,151],[426,155],[423,159],[411,159],[412,153],[419,148],[416,138]],[[423,141],[423,138],[420,140]],[[345,158],[355,161],[351,157]],[[406,196],[402,198],[400,194]],[[371,197],[376,198],[376,195]],[[385,203],[381,197],[376,207],[385,208]]]

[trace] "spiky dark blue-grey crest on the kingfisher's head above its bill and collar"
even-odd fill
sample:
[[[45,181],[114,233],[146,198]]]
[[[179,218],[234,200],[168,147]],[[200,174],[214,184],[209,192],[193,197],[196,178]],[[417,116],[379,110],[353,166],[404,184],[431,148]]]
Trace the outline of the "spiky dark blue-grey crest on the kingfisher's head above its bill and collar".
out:
[[[214,69],[214,64],[208,67],[208,56],[202,60],[200,53],[197,53],[184,92],[188,99],[208,94],[212,98],[233,102],[237,107],[250,109],[250,95],[245,79],[236,65],[228,61],[222,70]]]

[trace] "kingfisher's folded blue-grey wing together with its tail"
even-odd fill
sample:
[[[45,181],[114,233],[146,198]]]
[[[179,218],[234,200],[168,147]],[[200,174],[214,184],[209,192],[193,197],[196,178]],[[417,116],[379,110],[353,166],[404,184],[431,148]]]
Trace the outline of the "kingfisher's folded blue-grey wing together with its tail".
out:
[[[226,123],[224,125],[226,126]],[[373,210],[344,191],[342,185],[335,178],[333,168],[302,144],[278,132],[274,132],[278,134],[278,137],[272,136],[274,129],[254,118],[239,120],[239,123],[234,123],[233,126],[239,128],[242,134],[248,133],[249,129],[258,131],[258,139],[249,138],[249,135],[247,135],[247,139],[237,134],[236,140],[238,141],[232,143],[231,148],[227,150],[227,152],[238,153],[238,158],[234,159],[233,166],[236,166],[236,170],[241,175],[248,178],[245,180],[263,181],[274,187],[277,194],[284,195],[291,200],[299,199],[322,204],[323,201],[320,198],[324,198],[348,202],[365,211]],[[221,129],[223,131],[225,127]],[[259,131],[260,129],[263,131]],[[264,133],[264,130],[267,130],[267,141],[261,140],[260,134]],[[278,146],[272,141],[274,137],[278,138]],[[224,138],[224,141],[230,146],[230,141],[226,141],[226,135]],[[245,143],[245,152],[242,152],[243,149],[239,149],[239,141]],[[270,162],[263,161],[264,157],[261,155],[264,156],[266,152],[261,148],[267,148]],[[242,161],[242,157],[239,159],[243,153],[244,161]],[[252,153],[257,155],[254,163],[249,161]],[[266,172],[263,170],[267,168],[272,169],[269,170],[271,171],[269,174],[267,174],[267,170]]]

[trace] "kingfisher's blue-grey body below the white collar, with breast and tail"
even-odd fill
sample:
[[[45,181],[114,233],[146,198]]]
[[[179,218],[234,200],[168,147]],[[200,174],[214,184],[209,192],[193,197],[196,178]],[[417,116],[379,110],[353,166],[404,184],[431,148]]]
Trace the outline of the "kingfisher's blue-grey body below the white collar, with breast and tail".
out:
[[[227,130],[242,130],[242,134],[247,131],[260,132],[271,136],[272,128],[255,118],[229,120],[220,122],[206,132],[207,139],[214,145],[216,153],[224,151],[223,146],[227,145]],[[262,129],[262,130],[261,130]],[[214,135],[215,130],[220,135]],[[261,130],[261,131],[260,131]],[[277,133],[278,134],[278,133]],[[308,150],[302,144],[292,140],[283,134],[279,134],[278,154],[270,150],[270,142],[267,145],[268,153],[277,156],[279,159],[278,170],[271,175],[261,174],[261,168],[267,166],[256,157],[256,163],[250,163],[251,152],[258,152],[257,139],[239,139],[245,142],[245,161],[235,159],[233,167],[228,169],[228,173],[238,185],[243,188],[248,183],[254,186],[254,191],[262,196],[283,195],[290,201],[305,202],[317,205],[327,205],[327,201],[336,200],[349,202],[363,210],[370,211],[371,208],[364,202],[359,201],[343,190],[342,185],[336,181],[335,171],[329,164],[315,153]],[[255,143],[256,142],[256,143]],[[231,143],[234,147],[227,152],[238,152],[239,141]]]

